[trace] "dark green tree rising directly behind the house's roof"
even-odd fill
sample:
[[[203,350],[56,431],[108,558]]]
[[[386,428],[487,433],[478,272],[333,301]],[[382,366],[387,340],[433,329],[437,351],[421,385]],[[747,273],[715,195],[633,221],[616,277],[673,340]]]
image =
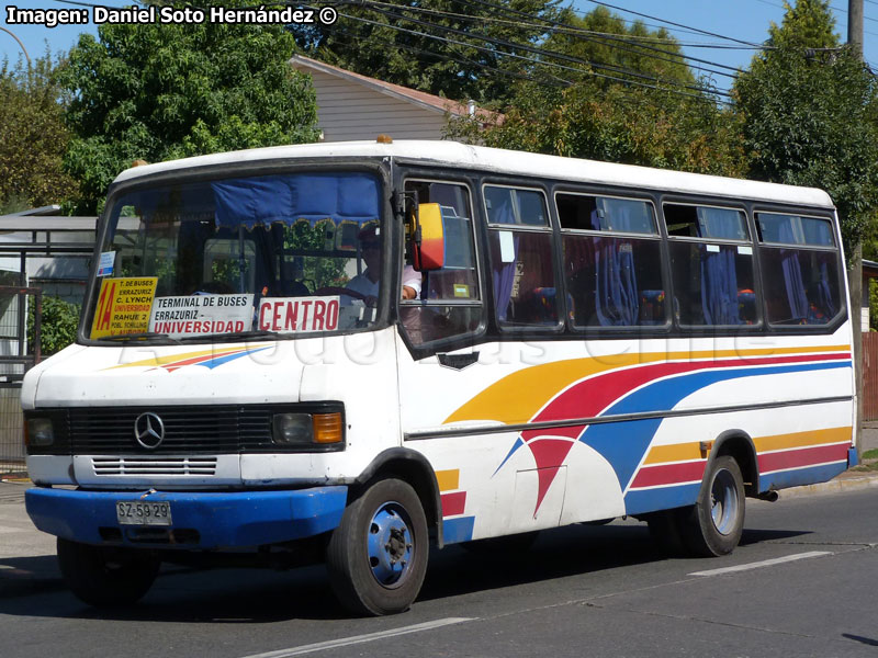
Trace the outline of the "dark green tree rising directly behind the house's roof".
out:
[[[559,0],[412,0],[344,4],[334,25],[292,27],[311,57],[449,99],[505,100],[562,15]],[[519,58],[516,58],[518,56]],[[507,75],[497,71],[505,71]]]

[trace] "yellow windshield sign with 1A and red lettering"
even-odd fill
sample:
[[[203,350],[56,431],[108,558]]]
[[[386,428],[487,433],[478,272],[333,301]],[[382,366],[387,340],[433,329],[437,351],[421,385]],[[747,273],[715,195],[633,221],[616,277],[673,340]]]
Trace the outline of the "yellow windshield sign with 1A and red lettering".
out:
[[[104,279],[91,338],[142,333],[149,329],[149,309],[156,295],[157,276]]]

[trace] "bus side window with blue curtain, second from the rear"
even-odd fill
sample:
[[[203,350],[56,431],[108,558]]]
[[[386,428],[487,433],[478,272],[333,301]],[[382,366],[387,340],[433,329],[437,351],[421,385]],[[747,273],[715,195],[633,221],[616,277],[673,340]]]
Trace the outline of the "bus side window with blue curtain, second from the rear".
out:
[[[665,204],[664,216],[679,324],[757,325],[753,246],[743,211]]]

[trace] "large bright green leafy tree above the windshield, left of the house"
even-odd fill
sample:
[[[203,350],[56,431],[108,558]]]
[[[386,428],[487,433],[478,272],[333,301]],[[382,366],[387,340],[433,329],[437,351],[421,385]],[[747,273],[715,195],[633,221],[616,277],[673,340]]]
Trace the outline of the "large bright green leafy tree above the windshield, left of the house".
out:
[[[61,77],[74,94],[65,164],[80,213],[135,159],[317,138],[314,90],[289,66],[295,46],[281,25],[104,24],[98,34],[80,36]]]

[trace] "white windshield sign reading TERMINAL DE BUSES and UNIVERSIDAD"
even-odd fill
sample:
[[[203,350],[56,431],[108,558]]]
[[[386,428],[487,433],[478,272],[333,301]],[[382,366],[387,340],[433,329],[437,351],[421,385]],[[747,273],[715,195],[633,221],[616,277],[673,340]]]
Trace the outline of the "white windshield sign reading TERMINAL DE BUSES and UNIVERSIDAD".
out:
[[[156,297],[149,331],[173,337],[237,333],[249,331],[252,321],[252,294]]]

